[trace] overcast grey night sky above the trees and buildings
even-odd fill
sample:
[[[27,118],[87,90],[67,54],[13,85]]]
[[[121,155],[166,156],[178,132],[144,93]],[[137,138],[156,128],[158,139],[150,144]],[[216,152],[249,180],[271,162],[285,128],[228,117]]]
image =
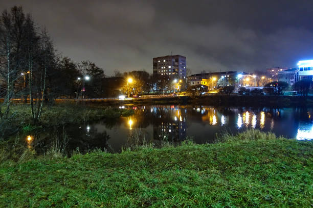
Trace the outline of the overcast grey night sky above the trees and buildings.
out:
[[[146,70],[183,55],[193,73],[296,67],[313,59],[313,1],[14,1],[46,27],[58,51],[105,74]]]

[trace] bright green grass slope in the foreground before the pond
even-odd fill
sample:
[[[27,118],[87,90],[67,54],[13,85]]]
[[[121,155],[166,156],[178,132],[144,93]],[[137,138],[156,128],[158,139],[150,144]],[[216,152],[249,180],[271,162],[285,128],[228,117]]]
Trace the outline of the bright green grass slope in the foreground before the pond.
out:
[[[310,207],[313,144],[183,143],[0,166],[1,207]]]

